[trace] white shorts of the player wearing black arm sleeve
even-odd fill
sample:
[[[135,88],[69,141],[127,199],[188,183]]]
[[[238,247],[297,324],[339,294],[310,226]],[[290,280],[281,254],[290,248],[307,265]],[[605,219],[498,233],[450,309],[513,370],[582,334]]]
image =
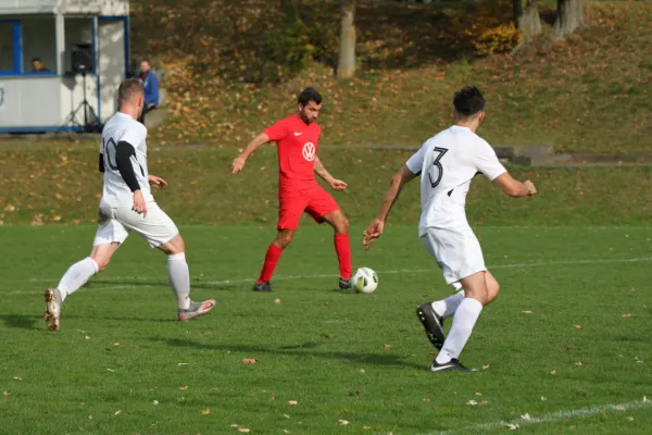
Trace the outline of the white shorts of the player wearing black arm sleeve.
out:
[[[111,208],[100,203],[98,231],[92,245],[122,244],[131,229],[140,234],[152,248],[168,243],[179,233],[172,219],[155,202],[147,203],[147,217],[130,207]]]

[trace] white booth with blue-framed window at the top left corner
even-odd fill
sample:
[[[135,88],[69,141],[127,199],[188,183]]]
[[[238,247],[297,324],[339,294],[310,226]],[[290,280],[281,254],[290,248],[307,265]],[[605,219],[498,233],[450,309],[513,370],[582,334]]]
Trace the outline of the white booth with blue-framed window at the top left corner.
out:
[[[128,0],[0,0],[0,133],[103,124],[128,71]]]

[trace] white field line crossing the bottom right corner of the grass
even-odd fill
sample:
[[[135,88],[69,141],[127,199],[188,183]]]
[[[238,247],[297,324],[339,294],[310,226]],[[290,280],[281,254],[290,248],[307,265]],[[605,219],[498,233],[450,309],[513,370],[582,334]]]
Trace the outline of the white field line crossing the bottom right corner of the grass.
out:
[[[498,420],[491,423],[477,424],[475,426],[467,426],[457,430],[450,431],[441,431],[441,432],[429,432],[426,435],[454,435],[454,434],[469,434],[469,433],[478,433],[478,432],[487,432],[497,428],[517,428],[519,426],[527,426],[531,424],[544,424],[544,423],[555,423],[563,420],[570,419],[586,419],[589,417],[600,415],[606,411],[630,411],[634,409],[640,408],[651,408],[652,401],[642,400],[642,401],[630,401],[626,403],[612,403],[612,405],[601,405],[591,408],[581,408],[581,409],[572,409],[568,411],[556,411],[551,412],[549,414],[544,414],[542,417],[531,417],[531,415],[522,415],[519,419],[515,420]]]

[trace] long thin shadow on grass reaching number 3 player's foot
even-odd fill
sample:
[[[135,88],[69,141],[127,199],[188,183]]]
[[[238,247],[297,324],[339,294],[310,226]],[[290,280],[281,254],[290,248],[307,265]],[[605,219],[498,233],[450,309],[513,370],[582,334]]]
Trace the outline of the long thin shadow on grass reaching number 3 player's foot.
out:
[[[278,355],[278,356],[294,356],[294,357],[313,357],[324,358],[329,360],[341,360],[344,362],[355,362],[362,364],[376,364],[376,365],[393,365],[410,368],[414,370],[425,370],[427,364],[417,364],[414,362],[403,361],[403,357],[393,355],[377,355],[377,353],[354,353],[354,352],[341,352],[341,351],[317,351],[314,350],[318,346],[318,343],[305,343],[303,345],[284,346],[284,347],[261,347],[251,345],[239,345],[239,344],[227,344],[227,343],[211,343],[203,344],[192,340],[177,339],[177,338],[162,338],[162,337],[150,337],[152,341],[165,343],[167,346],[179,347],[179,348],[193,348],[199,350],[214,350],[224,352],[230,350],[231,352],[242,352],[251,355]],[[311,350],[308,350],[311,349]]]

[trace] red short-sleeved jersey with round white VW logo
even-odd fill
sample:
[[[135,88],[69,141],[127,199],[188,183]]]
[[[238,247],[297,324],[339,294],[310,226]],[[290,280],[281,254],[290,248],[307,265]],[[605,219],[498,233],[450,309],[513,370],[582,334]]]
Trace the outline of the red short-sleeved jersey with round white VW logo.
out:
[[[269,141],[277,142],[280,189],[317,185],[315,157],[322,135],[322,127],[317,123],[305,124],[297,113],[276,122],[264,133]]]

